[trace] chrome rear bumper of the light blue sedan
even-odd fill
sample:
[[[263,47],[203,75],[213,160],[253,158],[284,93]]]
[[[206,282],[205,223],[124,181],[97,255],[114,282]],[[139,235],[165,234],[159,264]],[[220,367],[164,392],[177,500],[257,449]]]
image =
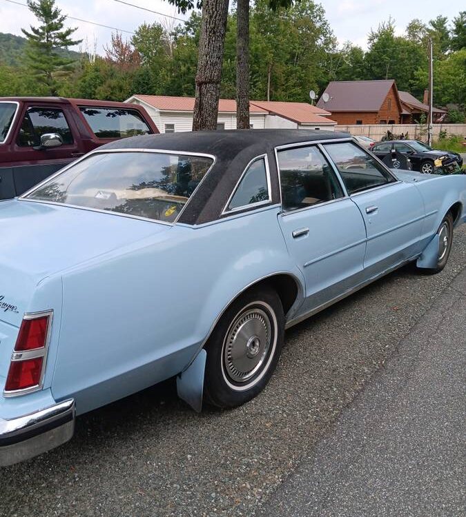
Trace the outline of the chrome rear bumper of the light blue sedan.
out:
[[[62,443],[75,431],[75,401],[70,399],[37,412],[0,418],[0,466],[33,458]]]

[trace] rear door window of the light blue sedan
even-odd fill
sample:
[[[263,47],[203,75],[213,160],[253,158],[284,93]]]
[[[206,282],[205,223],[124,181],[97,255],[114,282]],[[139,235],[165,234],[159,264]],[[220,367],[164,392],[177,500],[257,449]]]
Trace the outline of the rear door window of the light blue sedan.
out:
[[[278,168],[286,212],[344,196],[331,165],[315,145],[279,151]]]

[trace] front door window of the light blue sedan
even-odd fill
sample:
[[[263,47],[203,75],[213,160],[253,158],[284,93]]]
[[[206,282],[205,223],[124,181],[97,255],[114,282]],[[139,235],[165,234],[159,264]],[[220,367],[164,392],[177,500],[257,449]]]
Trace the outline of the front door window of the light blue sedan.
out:
[[[325,145],[349,194],[396,181],[369,153],[351,142]]]

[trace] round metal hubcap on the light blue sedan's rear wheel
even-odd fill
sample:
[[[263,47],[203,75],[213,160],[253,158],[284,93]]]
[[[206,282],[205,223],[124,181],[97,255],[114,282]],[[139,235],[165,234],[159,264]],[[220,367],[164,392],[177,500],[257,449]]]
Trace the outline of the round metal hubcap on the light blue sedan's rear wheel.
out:
[[[233,321],[224,345],[225,372],[236,383],[254,376],[262,367],[271,345],[269,316],[259,308],[245,310]]]

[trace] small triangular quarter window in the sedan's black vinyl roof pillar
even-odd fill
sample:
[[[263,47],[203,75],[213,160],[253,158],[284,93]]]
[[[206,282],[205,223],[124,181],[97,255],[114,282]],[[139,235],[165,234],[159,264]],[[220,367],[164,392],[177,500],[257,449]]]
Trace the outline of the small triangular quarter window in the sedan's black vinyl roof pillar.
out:
[[[265,159],[261,157],[249,165],[248,170],[246,170],[240,183],[237,185],[225,212],[269,201],[267,169]]]

